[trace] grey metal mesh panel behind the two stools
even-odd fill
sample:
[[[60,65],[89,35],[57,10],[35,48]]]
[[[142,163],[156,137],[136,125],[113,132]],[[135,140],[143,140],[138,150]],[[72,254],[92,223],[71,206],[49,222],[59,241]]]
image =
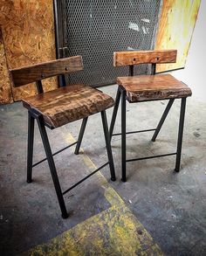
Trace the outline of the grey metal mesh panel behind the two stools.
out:
[[[127,75],[113,67],[113,52],[150,50],[161,0],[66,0],[69,56],[82,55],[84,71],[70,75],[70,83],[112,84]],[[146,73],[138,66],[135,73]]]

